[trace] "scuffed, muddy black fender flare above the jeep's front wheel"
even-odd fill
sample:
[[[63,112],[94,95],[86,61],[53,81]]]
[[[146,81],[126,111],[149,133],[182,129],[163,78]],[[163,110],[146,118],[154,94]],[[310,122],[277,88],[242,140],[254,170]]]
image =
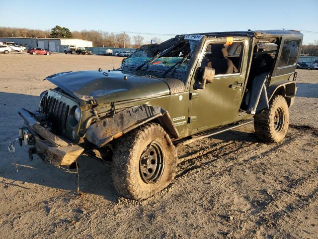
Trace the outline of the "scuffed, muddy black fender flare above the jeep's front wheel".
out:
[[[157,106],[139,105],[124,109],[113,117],[107,117],[91,124],[85,138],[92,144],[102,147],[106,143],[151,120],[158,119],[171,138],[179,133],[167,111]]]

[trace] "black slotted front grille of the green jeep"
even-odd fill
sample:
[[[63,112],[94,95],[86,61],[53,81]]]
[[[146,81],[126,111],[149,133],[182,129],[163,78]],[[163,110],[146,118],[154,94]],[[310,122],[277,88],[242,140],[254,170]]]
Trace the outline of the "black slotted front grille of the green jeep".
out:
[[[42,107],[43,113],[48,115],[48,120],[52,123],[52,128],[57,134],[63,135],[70,106],[46,94],[42,98]]]

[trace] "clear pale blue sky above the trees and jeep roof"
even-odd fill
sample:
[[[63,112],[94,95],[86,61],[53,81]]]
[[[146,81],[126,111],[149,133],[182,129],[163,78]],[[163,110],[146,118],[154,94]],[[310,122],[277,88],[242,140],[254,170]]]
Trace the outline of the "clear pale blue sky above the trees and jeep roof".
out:
[[[318,32],[318,0],[54,0],[53,4],[45,0],[14,0],[14,3],[0,0],[0,3],[0,26],[9,27],[45,30],[61,25],[71,30],[163,34],[248,28]],[[148,40],[156,35],[143,36]],[[157,37],[165,40],[171,36]],[[318,40],[318,33],[304,32],[304,42],[314,40]]]

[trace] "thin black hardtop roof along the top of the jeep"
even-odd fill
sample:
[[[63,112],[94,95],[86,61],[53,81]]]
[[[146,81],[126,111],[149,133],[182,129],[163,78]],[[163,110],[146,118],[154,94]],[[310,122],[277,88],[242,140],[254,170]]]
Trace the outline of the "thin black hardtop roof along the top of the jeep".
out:
[[[192,35],[192,34],[191,34]],[[195,33],[193,35],[206,35],[206,36],[251,36],[251,37],[270,37],[270,36],[297,36],[302,37],[303,34],[298,30],[263,30],[263,31],[223,31],[223,32],[205,32]]]

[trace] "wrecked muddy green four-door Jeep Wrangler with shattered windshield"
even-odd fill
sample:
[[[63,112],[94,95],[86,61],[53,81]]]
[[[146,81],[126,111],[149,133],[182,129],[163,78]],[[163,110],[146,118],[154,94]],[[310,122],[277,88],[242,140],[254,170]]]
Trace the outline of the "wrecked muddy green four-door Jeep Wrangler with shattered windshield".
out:
[[[69,166],[97,150],[120,195],[149,198],[174,179],[176,144],[250,122],[259,139],[284,139],[302,39],[293,30],[177,35],[138,48],[120,69],[49,76],[57,88],[39,109],[19,110],[20,145]]]

